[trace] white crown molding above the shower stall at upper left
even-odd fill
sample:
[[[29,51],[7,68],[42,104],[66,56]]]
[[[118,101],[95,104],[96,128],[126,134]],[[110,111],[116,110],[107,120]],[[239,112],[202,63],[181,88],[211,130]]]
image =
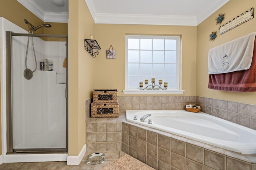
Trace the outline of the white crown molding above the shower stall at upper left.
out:
[[[45,12],[33,0],[17,1],[44,22],[68,22],[68,12]]]

